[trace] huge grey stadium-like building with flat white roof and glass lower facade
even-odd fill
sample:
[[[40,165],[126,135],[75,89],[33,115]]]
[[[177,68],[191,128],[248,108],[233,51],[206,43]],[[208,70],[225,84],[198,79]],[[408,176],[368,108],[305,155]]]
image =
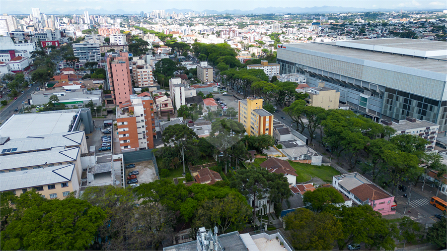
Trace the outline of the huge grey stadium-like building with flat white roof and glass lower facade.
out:
[[[406,117],[447,130],[447,43],[388,38],[278,45],[280,73],[340,92],[340,102],[374,121]]]

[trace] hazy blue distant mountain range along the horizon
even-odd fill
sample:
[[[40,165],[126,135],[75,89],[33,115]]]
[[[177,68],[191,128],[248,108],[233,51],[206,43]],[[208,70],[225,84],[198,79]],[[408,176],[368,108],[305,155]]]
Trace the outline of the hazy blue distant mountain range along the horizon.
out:
[[[429,9],[429,8],[389,8],[389,9],[368,9],[368,8],[355,8],[355,7],[340,7],[340,6],[320,6],[320,7],[268,7],[268,8],[255,8],[252,10],[240,10],[240,9],[233,9],[233,10],[223,10],[223,11],[217,11],[212,9],[205,9],[202,11],[197,11],[193,9],[166,9],[165,12],[172,13],[175,11],[175,13],[187,13],[187,12],[207,12],[207,14],[233,14],[233,15],[247,15],[247,14],[270,14],[270,13],[279,13],[279,14],[287,14],[287,13],[334,13],[334,12],[366,12],[366,11],[400,11],[400,10],[408,10],[408,11],[427,11],[427,10],[443,10],[443,9]],[[106,10],[106,9],[76,9],[76,10],[70,10],[65,12],[59,12],[59,11],[52,11],[52,12],[44,12],[43,13],[47,15],[68,15],[68,14],[84,14],[84,11],[88,11],[90,15],[97,15],[97,14],[109,14],[109,15],[128,15],[128,14],[140,14],[139,11],[125,11],[122,9],[116,9],[116,10]],[[148,12],[148,11],[145,11]],[[150,12],[150,11],[149,11]],[[9,11],[7,12],[9,15],[28,15],[30,13],[23,13],[21,11]]]

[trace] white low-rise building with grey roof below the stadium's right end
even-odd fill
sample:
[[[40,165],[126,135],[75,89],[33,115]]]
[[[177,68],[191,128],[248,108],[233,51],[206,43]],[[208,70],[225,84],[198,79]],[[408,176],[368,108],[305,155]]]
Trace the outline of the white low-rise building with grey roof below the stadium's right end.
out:
[[[418,135],[429,141],[426,145],[427,151],[434,150],[435,148],[439,130],[439,125],[435,123],[407,117],[405,120],[400,120],[399,123],[382,120],[382,124],[389,125],[396,130],[393,136],[402,134]]]

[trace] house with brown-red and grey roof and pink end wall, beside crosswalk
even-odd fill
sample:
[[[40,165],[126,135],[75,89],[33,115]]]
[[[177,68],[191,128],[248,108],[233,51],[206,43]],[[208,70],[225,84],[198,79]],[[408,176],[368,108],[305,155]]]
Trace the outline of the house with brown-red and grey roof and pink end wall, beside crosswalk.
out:
[[[382,215],[394,214],[394,196],[359,173],[332,177],[332,186],[358,205],[371,205]]]

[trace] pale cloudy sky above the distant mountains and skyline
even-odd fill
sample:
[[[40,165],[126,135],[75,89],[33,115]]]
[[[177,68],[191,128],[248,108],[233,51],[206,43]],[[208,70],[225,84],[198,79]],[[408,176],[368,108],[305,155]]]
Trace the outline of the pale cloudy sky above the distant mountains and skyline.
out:
[[[314,7],[341,6],[368,9],[447,9],[447,0],[0,0],[0,13],[21,11],[31,13],[40,8],[41,13],[66,12],[75,9],[105,9],[150,12],[154,9],[212,9],[251,10],[257,7]]]

